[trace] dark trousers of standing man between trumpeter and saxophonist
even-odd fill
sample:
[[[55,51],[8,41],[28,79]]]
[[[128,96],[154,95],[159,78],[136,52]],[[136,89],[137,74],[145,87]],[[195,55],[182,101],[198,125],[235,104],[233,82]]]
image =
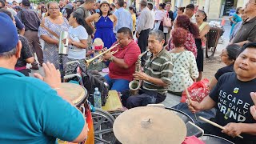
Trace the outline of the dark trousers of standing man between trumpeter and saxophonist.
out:
[[[147,46],[147,39],[149,38],[150,29],[142,30],[138,37],[138,46],[141,49],[141,52],[143,53],[146,51]],[[142,66],[144,66],[146,61],[146,54],[142,56]]]

